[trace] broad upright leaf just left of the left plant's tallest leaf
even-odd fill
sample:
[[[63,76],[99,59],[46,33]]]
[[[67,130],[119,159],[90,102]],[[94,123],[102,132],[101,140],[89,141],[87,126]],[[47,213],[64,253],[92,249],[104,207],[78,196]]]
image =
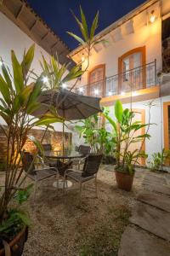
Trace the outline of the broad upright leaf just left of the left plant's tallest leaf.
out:
[[[19,61],[17,60],[14,50],[11,50],[11,60],[13,65],[13,73],[14,73],[14,86],[17,93],[24,87],[24,79],[22,74],[22,66],[20,65]]]

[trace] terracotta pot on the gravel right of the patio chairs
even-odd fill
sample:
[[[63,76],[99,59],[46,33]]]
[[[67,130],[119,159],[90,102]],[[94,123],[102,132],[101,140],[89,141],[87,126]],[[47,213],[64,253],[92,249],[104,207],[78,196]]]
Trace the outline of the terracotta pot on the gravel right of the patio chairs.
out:
[[[126,191],[131,191],[133,186],[133,175],[130,175],[126,172],[115,172],[116,175],[116,183],[119,189],[123,189]]]

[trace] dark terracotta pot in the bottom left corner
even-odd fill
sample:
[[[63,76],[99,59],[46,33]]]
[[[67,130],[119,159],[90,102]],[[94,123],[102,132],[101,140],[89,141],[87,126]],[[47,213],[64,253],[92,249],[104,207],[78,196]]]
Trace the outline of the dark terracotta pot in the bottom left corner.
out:
[[[8,243],[11,251],[11,256],[21,256],[24,249],[24,244],[27,240],[28,228],[25,227],[20,233]],[[0,256],[6,256],[4,247],[0,248]]]

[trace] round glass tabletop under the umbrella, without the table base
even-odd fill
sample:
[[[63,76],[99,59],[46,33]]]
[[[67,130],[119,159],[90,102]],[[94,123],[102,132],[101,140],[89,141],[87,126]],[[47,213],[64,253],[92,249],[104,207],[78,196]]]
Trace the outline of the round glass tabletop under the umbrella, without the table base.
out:
[[[82,157],[82,154],[77,151],[65,151],[63,154],[62,151],[49,150],[44,152],[44,156],[55,159],[71,159]]]

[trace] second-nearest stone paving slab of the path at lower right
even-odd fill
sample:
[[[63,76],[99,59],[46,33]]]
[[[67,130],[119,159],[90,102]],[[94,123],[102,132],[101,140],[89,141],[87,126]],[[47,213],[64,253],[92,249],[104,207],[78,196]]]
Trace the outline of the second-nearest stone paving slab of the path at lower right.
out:
[[[169,212],[164,212],[156,207],[138,202],[137,206],[133,208],[133,214],[130,221],[140,228],[170,241]]]

